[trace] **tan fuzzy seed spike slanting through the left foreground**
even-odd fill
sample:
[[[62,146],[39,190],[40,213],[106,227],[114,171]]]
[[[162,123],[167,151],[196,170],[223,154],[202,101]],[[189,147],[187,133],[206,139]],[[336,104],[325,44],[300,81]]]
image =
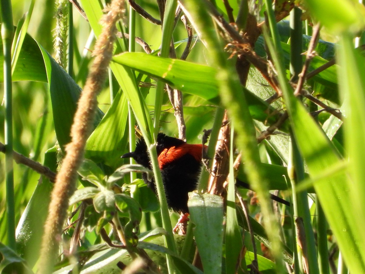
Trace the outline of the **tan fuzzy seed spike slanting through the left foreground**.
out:
[[[48,274],[52,271],[57,257],[58,244],[69,197],[75,190],[77,169],[80,167],[84,155],[86,140],[91,133],[92,123],[97,108],[96,96],[103,87],[107,76],[108,64],[112,57],[113,42],[115,40],[116,22],[123,14],[124,1],[113,0],[110,11],[103,16],[101,24],[103,31],[96,42],[93,56],[95,60],[86,81],[84,91],[78,101],[74,123],[71,128],[71,142],[66,145],[66,156],[57,175],[51,194],[49,214],[45,223],[45,235],[42,239],[41,261],[39,273]]]

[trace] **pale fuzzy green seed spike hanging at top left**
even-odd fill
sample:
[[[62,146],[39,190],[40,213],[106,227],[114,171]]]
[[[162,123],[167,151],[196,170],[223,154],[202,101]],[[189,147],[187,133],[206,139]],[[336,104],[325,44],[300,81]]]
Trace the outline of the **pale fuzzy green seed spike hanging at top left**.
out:
[[[56,28],[54,31],[53,47],[56,55],[54,59],[62,68],[66,68],[67,63],[68,3],[68,0],[57,0],[55,3]]]

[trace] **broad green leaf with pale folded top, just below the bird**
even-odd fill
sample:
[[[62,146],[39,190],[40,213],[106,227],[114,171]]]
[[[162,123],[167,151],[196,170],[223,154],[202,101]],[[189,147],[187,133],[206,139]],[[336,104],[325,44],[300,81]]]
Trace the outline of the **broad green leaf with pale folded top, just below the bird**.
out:
[[[223,200],[211,194],[189,193],[190,220],[205,273],[221,273],[223,244]],[[209,228],[207,229],[207,224]]]

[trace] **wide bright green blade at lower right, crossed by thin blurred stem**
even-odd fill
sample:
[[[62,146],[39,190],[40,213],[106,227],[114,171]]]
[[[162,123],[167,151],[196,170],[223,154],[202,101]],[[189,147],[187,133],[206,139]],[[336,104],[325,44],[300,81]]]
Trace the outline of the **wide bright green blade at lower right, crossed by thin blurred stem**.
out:
[[[296,98],[289,100],[290,106],[287,102],[287,107],[288,111],[290,109],[295,138],[308,165],[309,174],[319,176],[324,170],[339,164],[339,156],[304,106]],[[364,272],[365,252],[360,247],[365,244],[365,239],[358,233],[360,226],[357,213],[348,202],[352,198],[346,176],[342,173],[322,179],[314,187],[348,266],[355,273]]]

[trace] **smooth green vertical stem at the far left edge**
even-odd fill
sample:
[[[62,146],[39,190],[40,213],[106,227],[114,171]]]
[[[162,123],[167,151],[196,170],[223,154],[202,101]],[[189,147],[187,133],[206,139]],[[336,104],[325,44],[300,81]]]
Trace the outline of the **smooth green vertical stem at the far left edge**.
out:
[[[0,2],[1,39],[4,54],[4,106],[5,106],[5,184],[7,213],[7,244],[15,249],[15,201],[13,171],[13,117],[11,83],[11,43],[14,35],[11,1]]]

